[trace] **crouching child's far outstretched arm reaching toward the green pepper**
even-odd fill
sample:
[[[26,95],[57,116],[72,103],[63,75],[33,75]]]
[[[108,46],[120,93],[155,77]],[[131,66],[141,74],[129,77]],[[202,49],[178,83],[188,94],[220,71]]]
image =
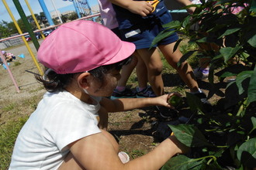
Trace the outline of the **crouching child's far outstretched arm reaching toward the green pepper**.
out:
[[[147,98],[120,98],[116,100],[109,100],[108,98],[102,98],[100,104],[108,110],[108,112],[118,112],[124,110],[132,110],[140,107],[149,106],[164,106],[171,107],[168,104],[168,99],[172,95],[178,95],[178,93],[164,94],[160,97],[147,97]]]

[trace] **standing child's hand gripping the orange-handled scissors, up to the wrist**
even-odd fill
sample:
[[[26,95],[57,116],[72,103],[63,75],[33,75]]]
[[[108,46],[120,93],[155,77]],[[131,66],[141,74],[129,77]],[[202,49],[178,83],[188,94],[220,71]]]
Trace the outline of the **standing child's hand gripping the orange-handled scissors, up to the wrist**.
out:
[[[134,14],[147,16],[152,12],[153,6],[146,1],[130,1],[129,5],[127,5],[127,9]]]

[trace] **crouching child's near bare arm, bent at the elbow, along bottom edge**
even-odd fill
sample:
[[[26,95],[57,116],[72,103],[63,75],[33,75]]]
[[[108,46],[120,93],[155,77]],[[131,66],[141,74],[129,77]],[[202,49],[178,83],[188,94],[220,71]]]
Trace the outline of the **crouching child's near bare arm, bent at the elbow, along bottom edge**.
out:
[[[112,143],[102,133],[81,138],[68,146],[79,165],[85,169],[95,170],[156,170],[160,169],[172,156],[188,151],[188,148],[182,145],[175,136],[171,136],[147,155],[123,164]]]

